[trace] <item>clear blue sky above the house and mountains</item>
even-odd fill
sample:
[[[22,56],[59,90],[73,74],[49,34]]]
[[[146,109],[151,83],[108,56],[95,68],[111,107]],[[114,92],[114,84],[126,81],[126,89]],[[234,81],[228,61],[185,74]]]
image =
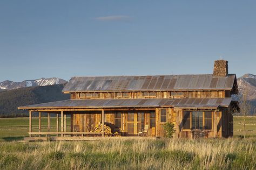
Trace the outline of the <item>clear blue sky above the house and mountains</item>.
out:
[[[0,1],[0,81],[256,74],[256,1]]]

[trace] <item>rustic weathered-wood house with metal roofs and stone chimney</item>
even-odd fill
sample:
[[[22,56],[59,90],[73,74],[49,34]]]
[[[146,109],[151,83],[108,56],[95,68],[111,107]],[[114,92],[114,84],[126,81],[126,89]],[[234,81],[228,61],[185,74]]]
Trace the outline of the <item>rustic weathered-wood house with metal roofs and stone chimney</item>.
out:
[[[72,77],[63,89],[70,100],[18,109],[30,113],[28,140],[53,134],[58,140],[104,136],[103,129],[92,132],[98,122],[122,136],[137,136],[147,126],[146,136],[164,137],[163,125],[171,122],[175,137],[232,137],[232,113],[239,105],[231,95],[238,94],[238,86],[236,75],[228,74],[227,64],[215,61],[213,74]],[[39,113],[37,132],[32,132],[32,112]],[[41,131],[41,112],[48,112],[48,132]],[[57,117],[54,132],[50,128],[53,114]],[[69,131],[66,115],[71,120]]]

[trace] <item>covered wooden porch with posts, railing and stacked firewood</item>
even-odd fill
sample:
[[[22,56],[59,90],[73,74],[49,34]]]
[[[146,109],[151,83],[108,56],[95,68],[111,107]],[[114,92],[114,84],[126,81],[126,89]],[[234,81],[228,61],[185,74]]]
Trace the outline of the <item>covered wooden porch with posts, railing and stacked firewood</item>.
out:
[[[29,137],[24,140],[99,140],[102,137],[112,139],[121,136],[125,137],[124,139],[156,137],[156,110],[156,108],[31,109],[29,110]],[[48,115],[48,126],[47,131],[42,131],[42,115],[45,113]],[[147,121],[148,119],[151,122]],[[32,121],[38,121],[38,127],[32,126]],[[97,128],[96,131],[95,127],[99,123],[101,124],[100,129]],[[111,134],[106,134],[106,130],[104,130],[106,126],[111,129]],[[139,131],[143,131],[145,126],[148,126],[146,133],[139,134]]]

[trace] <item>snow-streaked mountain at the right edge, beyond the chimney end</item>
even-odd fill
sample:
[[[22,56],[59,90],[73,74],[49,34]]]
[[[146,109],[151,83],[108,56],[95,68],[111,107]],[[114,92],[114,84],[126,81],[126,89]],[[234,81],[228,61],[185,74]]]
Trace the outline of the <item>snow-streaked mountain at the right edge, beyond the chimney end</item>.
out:
[[[239,93],[247,92],[248,100],[256,99],[256,75],[245,74],[237,79]]]

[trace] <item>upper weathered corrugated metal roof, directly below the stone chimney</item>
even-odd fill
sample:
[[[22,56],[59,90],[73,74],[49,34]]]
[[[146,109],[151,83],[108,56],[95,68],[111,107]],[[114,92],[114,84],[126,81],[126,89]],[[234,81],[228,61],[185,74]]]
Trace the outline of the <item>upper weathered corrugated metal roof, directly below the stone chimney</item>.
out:
[[[235,74],[226,77],[203,75],[72,77],[68,91],[147,91],[232,89]]]

